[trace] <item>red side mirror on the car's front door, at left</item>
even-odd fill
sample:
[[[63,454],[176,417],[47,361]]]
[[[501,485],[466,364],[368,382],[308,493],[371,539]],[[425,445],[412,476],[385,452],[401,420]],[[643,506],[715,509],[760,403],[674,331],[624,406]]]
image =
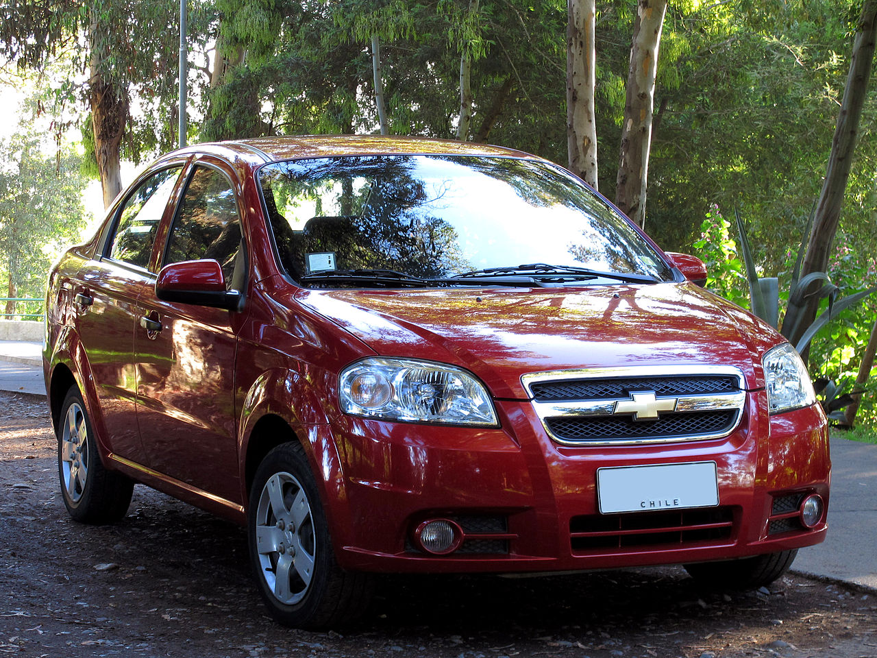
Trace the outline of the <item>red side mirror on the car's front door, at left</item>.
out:
[[[211,306],[237,311],[242,299],[238,290],[225,290],[225,276],[217,261],[182,261],[161,268],[155,296],[165,302]]]

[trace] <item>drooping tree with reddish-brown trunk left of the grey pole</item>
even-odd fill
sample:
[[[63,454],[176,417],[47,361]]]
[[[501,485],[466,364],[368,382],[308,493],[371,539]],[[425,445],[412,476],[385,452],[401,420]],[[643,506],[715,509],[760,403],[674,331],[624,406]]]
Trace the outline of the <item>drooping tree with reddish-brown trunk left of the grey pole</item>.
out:
[[[0,54],[8,60],[43,68],[67,49],[74,70],[88,72],[85,82],[68,84],[59,93],[81,99],[89,108],[103,203],[111,204],[121,190],[122,150],[138,161],[142,151],[163,150],[176,142],[179,5],[168,0],[58,0],[49,7],[0,0],[0,11]],[[190,15],[194,41],[203,33],[204,16],[199,11]],[[138,118],[130,112],[133,98],[144,105]]]

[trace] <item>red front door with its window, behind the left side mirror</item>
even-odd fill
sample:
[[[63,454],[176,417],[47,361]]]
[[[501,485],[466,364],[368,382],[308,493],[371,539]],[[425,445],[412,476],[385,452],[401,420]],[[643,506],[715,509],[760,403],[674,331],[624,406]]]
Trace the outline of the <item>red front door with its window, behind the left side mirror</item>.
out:
[[[161,265],[210,258],[226,287],[246,286],[232,170],[202,160],[187,175]],[[148,290],[134,340],[138,423],[151,468],[234,504],[239,486],[234,370],[242,313],[171,303]]]

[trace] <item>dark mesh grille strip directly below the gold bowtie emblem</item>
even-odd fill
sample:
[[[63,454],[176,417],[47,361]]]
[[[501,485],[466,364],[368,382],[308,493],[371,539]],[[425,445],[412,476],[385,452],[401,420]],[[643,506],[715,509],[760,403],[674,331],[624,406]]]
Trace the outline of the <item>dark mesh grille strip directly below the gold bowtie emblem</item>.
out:
[[[627,418],[548,418],[549,432],[568,441],[663,439],[718,433],[732,427],[736,411],[668,413],[652,422]]]

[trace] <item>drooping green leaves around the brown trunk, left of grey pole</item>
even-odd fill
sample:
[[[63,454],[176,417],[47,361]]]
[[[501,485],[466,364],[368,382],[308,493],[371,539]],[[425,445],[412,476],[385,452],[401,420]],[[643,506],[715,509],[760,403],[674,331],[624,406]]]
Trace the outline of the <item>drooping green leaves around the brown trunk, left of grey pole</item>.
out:
[[[193,45],[206,43],[214,19],[212,3],[192,0],[188,33]],[[50,4],[0,0],[0,56],[21,68],[44,71],[59,59],[67,64],[53,103],[82,103],[106,85],[133,99],[137,110],[123,117],[122,157],[139,162],[175,147],[179,3],[175,0],[60,0]],[[82,73],[88,75],[84,76]],[[202,79],[193,76],[190,82]],[[193,85],[197,87],[197,84]],[[197,92],[196,92],[197,93]],[[127,107],[127,102],[123,105]],[[83,111],[79,125],[90,131]],[[93,135],[87,137],[94,144]],[[93,147],[90,153],[94,153]]]

